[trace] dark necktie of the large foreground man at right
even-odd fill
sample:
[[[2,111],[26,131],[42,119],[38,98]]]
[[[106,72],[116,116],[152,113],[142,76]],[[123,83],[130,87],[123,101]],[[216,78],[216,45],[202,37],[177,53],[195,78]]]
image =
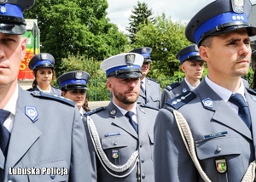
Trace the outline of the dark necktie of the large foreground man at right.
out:
[[[239,117],[241,117],[243,122],[246,123],[248,128],[251,128],[252,122],[251,122],[250,111],[249,111],[249,108],[248,108],[244,98],[242,97],[242,95],[241,94],[232,94],[230,96],[229,101],[231,103],[233,103],[234,105],[238,106],[238,108],[239,108],[239,110],[238,110]]]

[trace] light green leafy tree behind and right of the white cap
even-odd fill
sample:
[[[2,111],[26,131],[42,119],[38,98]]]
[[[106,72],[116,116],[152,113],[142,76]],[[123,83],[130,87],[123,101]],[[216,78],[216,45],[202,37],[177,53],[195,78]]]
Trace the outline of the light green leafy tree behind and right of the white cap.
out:
[[[191,44],[186,39],[184,30],[185,24],[174,22],[171,17],[166,19],[166,15],[162,14],[155,17],[154,24],[140,26],[135,43],[132,44],[133,48],[145,46],[152,48],[151,60],[153,61],[148,77],[155,78],[162,88],[183,78],[176,54],[181,48]]]

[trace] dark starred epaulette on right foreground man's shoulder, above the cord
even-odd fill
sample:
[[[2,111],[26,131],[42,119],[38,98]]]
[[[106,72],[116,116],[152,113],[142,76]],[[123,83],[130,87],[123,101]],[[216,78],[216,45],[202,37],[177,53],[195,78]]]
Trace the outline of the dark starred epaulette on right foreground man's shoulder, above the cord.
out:
[[[187,104],[190,100],[195,99],[195,97],[196,97],[195,93],[193,93],[191,91],[187,91],[183,94],[178,95],[177,97],[173,98],[172,100],[169,100],[168,102],[166,102],[166,104],[172,106],[174,109],[177,110],[178,108]]]

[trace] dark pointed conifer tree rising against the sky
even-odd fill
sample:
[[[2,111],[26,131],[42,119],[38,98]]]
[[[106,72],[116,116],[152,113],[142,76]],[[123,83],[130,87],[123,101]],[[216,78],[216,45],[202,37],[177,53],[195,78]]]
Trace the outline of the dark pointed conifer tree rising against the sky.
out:
[[[137,31],[139,31],[141,25],[148,25],[149,22],[154,23],[154,18],[152,18],[153,11],[148,9],[147,3],[137,2],[137,6],[134,6],[131,10],[129,27],[126,30],[129,31],[129,37],[131,43],[135,42],[135,37]]]

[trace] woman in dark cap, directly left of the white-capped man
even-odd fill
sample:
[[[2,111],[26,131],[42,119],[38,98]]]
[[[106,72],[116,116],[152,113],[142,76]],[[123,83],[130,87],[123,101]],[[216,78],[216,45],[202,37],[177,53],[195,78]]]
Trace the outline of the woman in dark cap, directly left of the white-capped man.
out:
[[[86,71],[69,71],[57,78],[57,83],[61,87],[61,95],[73,100],[81,115],[90,111],[86,94],[89,79],[90,75]]]

